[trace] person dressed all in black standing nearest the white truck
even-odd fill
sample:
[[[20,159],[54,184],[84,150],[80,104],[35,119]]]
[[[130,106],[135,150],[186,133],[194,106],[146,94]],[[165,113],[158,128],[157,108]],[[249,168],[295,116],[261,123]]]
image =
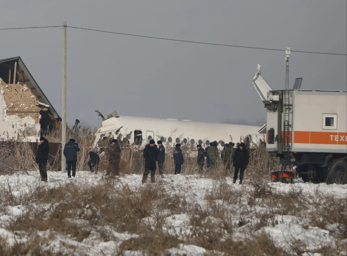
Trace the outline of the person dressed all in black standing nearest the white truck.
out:
[[[236,183],[238,173],[240,172],[240,184],[242,184],[243,173],[247,168],[249,161],[249,153],[246,150],[245,143],[240,143],[237,150],[234,152],[234,157],[232,160],[232,165],[234,166],[234,179],[233,183]]]

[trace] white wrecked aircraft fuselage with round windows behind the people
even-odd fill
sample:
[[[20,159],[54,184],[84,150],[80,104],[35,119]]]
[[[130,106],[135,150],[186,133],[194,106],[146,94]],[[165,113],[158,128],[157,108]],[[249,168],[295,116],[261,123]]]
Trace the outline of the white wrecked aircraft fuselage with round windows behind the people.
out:
[[[195,122],[191,120],[162,119],[118,116],[111,117],[102,122],[102,127],[96,131],[95,145],[105,137],[127,138],[130,145],[143,147],[150,139],[162,140],[163,144],[174,147],[176,143],[194,145],[202,144],[206,147],[216,140],[221,149],[230,141],[235,145],[241,138],[253,141],[258,137],[263,139],[264,134],[260,126],[229,125],[223,123]],[[247,136],[248,135],[248,136]],[[265,135],[266,136],[266,135]]]

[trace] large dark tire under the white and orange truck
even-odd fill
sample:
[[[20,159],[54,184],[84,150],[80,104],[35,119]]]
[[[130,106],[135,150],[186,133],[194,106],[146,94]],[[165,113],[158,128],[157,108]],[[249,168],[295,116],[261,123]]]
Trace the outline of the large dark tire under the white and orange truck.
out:
[[[328,184],[346,184],[347,183],[347,161],[346,157],[338,158],[328,164]]]

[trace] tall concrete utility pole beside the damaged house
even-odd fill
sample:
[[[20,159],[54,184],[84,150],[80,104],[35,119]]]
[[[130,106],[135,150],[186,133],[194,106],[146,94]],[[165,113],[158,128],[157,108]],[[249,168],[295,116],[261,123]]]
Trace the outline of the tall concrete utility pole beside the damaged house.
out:
[[[66,159],[63,150],[66,143],[66,22],[63,22],[63,84],[61,99],[61,171],[65,172]]]

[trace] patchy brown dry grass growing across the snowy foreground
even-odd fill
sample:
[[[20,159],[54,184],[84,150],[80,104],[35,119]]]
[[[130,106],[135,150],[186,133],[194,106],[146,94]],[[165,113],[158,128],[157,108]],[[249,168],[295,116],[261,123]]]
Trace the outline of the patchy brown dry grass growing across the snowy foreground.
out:
[[[217,252],[240,256],[301,255],[308,248],[303,241],[287,237],[292,249],[287,251],[262,231],[263,227],[283,223],[280,216],[284,215],[307,219],[307,228],[329,230],[338,241],[347,238],[346,199],[319,191],[309,195],[295,190],[283,195],[270,191],[259,194],[255,189],[236,189],[221,178],[206,192],[205,200],[206,205],[201,206],[188,202],[160,183],[130,188],[117,179],[101,179],[94,185],[68,183],[54,188],[40,185],[19,194],[12,193],[9,185],[3,186],[1,212],[6,211],[6,205],[26,207],[22,215],[10,220],[4,228],[18,236],[25,234],[28,240],[13,245],[0,240],[0,255],[71,255],[43,248],[56,238],[54,233],[83,242],[94,232],[99,233],[101,241],[120,242],[114,255],[123,255],[126,250],[140,250],[144,255],[167,255],[166,249],[181,243],[203,247],[209,252],[207,255],[216,256],[220,255]],[[174,228],[165,218],[182,213],[190,216],[187,231],[172,232]],[[146,221],[149,218],[152,218],[151,224]],[[37,232],[46,230],[53,232],[51,236],[38,239]],[[112,230],[134,234],[134,237],[119,241]],[[66,247],[78,251],[68,244]],[[311,252],[337,255],[344,249],[344,245],[338,243],[322,245]]]

